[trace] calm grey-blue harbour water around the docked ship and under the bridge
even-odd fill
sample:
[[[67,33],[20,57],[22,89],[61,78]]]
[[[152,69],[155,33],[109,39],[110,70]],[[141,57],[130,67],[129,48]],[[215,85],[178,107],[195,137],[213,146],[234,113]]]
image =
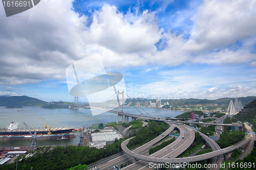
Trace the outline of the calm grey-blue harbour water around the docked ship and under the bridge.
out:
[[[143,107],[143,109],[148,113],[144,112],[141,108],[136,107],[144,115],[150,114],[151,116],[156,117],[175,117],[184,111],[170,111],[170,110],[161,110],[150,107]],[[140,114],[140,112],[134,107],[124,106],[124,112]],[[17,111],[23,110],[23,111]],[[0,107],[0,128],[7,128],[12,121],[19,123],[19,128],[26,128],[23,122],[29,125],[31,128],[42,128],[42,124],[39,117],[44,118],[48,125],[53,128],[57,127],[72,127],[79,128],[81,127],[79,122],[82,125],[92,126],[92,124],[99,123],[110,123],[116,121],[116,114],[105,112],[99,115],[92,116],[92,113],[89,108],[84,108],[82,110],[69,110],[69,109],[41,109],[40,107],[24,107],[17,109],[5,109],[5,107]],[[121,117],[119,117],[121,121]],[[130,118],[131,121],[131,118]],[[80,132],[75,132],[76,135],[79,135]],[[78,144],[79,136],[71,138],[69,140],[38,140],[38,146],[45,145],[65,145],[65,144]],[[0,147],[29,147],[31,141],[0,141]]]

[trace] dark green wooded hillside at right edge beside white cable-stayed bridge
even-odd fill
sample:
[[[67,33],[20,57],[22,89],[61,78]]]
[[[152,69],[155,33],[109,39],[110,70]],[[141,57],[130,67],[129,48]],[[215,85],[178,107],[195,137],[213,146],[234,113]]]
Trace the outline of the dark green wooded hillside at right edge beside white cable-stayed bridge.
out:
[[[253,130],[255,132],[256,129],[256,99],[248,103],[242,111],[240,111],[238,114],[234,115],[235,118],[247,121],[251,124],[253,124]]]

